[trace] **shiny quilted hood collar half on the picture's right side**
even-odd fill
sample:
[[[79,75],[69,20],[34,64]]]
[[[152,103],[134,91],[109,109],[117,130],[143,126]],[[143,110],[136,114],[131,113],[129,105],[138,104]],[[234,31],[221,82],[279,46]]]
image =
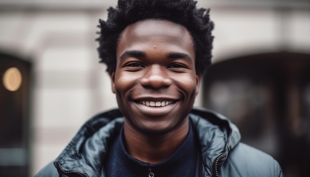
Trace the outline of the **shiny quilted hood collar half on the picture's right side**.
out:
[[[212,176],[215,166],[219,169],[240,141],[240,132],[226,117],[205,108],[192,109],[190,118],[201,145],[201,175]]]

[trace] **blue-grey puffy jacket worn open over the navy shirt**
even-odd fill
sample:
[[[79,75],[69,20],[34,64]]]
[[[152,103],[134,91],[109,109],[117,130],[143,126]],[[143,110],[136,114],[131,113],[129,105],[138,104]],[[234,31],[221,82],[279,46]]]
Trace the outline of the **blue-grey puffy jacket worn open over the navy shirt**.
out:
[[[189,117],[201,145],[197,177],[283,177],[271,156],[239,142],[238,128],[224,116],[196,108]],[[107,149],[122,126],[118,109],[93,117],[36,177],[104,177]]]

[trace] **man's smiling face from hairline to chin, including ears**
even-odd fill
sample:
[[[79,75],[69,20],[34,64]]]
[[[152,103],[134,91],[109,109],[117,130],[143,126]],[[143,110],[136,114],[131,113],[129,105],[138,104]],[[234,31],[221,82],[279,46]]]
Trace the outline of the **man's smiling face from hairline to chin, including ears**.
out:
[[[125,121],[147,134],[178,128],[199,90],[195,49],[188,30],[165,20],[144,20],[122,32],[112,91]]]

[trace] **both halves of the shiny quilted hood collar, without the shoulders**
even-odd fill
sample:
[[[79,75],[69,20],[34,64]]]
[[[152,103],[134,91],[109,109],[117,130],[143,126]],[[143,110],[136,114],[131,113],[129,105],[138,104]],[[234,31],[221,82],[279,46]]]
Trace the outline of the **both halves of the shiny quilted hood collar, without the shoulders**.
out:
[[[107,144],[120,132],[121,117],[115,109],[90,119],[54,161],[57,170],[82,177],[104,177],[102,167]],[[217,164],[220,167],[229,150],[240,141],[239,130],[224,116],[204,108],[193,109],[190,120],[201,144],[203,164],[199,171],[203,176],[211,176],[215,160],[224,154]]]

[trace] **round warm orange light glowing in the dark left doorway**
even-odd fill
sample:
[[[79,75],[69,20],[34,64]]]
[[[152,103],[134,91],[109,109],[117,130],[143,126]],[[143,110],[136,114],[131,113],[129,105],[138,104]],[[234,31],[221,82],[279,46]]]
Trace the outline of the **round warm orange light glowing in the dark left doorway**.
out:
[[[3,85],[9,91],[16,91],[21,85],[21,73],[17,68],[9,68],[4,72]]]

